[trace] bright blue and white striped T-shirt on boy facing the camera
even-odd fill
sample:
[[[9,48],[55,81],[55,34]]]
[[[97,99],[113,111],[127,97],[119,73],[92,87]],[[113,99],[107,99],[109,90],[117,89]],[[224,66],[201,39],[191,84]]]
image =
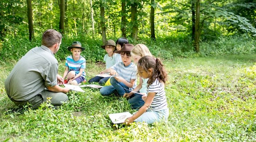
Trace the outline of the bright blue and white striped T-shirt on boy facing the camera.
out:
[[[72,55],[71,56],[67,56],[66,58],[66,63],[65,66],[68,67],[68,70],[74,70],[75,74],[79,74],[79,70],[80,68],[85,69],[86,65],[85,65],[85,58],[80,56],[80,59],[78,61],[74,61]],[[82,77],[85,77],[85,72],[83,71]]]

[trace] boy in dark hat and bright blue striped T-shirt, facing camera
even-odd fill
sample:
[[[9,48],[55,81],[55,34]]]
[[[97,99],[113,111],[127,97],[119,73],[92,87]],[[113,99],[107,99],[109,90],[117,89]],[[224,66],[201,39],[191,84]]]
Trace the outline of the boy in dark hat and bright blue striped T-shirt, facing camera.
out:
[[[65,63],[65,72],[63,74],[64,83],[71,85],[79,85],[85,78],[85,58],[80,54],[85,48],[79,41],[74,41],[71,46],[67,48],[72,52],[71,56],[67,56]]]

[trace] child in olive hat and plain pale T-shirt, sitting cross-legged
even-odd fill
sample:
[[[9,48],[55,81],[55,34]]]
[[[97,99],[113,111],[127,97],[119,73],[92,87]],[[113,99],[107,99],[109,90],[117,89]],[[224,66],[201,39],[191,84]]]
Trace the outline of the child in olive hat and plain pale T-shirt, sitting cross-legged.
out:
[[[105,45],[102,45],[101,48],[103,48],[107,54],[104,56],[104,61],[106,62],[106,68],[110,68],[111,66],[115,65],[118,62],[121,62],[121,56],[120,54],[114,53],[116,51],[116,44],[113,40],[108,40]],[[100,74],[103,74],[103,72],[100,72]],[[105,84],[108,81],[109,77],[100,77],[95,76],[91,78],[88,82],[98,82],[99,84]]]

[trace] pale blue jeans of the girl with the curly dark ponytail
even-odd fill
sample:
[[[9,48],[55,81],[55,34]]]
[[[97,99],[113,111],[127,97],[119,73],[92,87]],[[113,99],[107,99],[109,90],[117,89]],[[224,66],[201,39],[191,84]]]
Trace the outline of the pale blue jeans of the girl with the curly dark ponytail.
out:
[[[135,122],[146,122],[148,124],[152,124],[154,122],[159,122],[161,120],[167,121],[169,116],[169,109],[163,109],[160,111],[153,111],[148,109],[144,112],[140,117],[138,117]]]

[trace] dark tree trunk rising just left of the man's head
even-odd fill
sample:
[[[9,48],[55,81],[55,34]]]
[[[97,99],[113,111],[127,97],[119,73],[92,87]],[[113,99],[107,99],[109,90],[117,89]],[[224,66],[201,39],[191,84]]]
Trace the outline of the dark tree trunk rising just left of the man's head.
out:
[[[31,41],[34,38],[34,28],[33,28],[33,13],[32,13],[32,2],[27,0],[28,6],[28,31],[29,31],[29,40]]]

